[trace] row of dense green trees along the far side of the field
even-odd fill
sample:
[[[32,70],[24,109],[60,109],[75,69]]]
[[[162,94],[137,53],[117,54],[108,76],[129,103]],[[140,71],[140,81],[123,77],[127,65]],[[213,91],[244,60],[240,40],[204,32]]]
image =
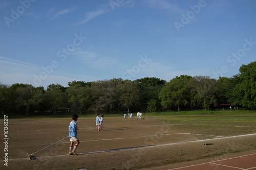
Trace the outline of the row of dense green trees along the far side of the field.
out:
[[[77,112],[118,113],[137,111],[218,109],[220,104],[254,109],[256,62],[242,65],[231,78],[180,75],[166,82],[158,78],[134,81],[113,78],[95,82],[73,81],[68,87],[50,84],[0,83],[2,113],[31,114]]]

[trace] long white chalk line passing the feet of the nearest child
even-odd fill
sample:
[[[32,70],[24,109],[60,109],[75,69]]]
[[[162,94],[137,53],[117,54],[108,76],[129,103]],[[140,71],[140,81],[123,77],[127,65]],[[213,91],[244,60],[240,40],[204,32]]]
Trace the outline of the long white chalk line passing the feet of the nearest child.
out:
[[[183,143],[190,143],[190,142],[201,142],[201,141],[208,141],[208,140],[217,140],[217,139],[227,139],[227,138],[235,138],[235,137],[244,137],[244,136],[252,136],[256,135],[256,133],[253,134],[246,134],[246,135],[238,135],[238,136],[229,136],[229,137],[221,137],[221,138],[212,138],[212,139],[203,139],[203,140],[193,140],[193,141],[185,141],[185,142],[178,142],[178,143],[168,143],[168,144],[159,144],[159,145],[151,145],[151,146],[145,146],[143,148],[150,148],[150,147],[163,147],[167,145],[175,145],[175,144],[183,144]],[[142,147],[135,147],[135,148],[129,148],[129,149],[136,149],[136,148],[142,148]],[[124,149],[116,149],[115,151],[121,151]],[[95,152],[88,152],[88,153],[78,153],[78,154],[92,154],[92,153],[102,153],[102,152],[110,152],[114,150],[107,150],[107,151],[95,151]],[[67,155],[67,154],[65,154]],[[56,157],[56,156],[65,156],[65,155],[54,155],[54,156],[44,156],[44,157]],[[37,157],[41,158],[41,157]],[[17,159],[10,159],[10,160],[20,160],[20,159],[27,159],[27,158],[17,158]]]

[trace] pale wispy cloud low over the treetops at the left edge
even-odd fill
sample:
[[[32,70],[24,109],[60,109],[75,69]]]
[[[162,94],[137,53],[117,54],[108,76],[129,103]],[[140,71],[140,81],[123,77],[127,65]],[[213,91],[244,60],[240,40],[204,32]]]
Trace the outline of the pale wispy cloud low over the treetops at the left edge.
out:
[[[68,82],[74,81],[77,77],[77,75],[63,74],[54,70],[51,74],[42,74],[46,71],[41,66],[4,57],[0,57],[0,68],[0,83],[7,85],[23,83],[32,84],[35,87],[43,86],[46,89],[50,84],[60,84],[66,87]],[[86,80],[95,80],[93,77],[84,75],[81,77],[85,77]]]

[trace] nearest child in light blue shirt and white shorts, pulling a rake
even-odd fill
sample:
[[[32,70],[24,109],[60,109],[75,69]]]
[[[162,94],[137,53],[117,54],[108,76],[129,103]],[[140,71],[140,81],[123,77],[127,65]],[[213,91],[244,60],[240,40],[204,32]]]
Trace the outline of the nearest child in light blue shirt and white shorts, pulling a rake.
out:
[[[77,114],[72,115],[72,121],[69,124],[69,139],[70,139],[69,155],[77,155],[76,149],[78,147],[78,144],[80,143],[77,137],[77,130],[78,130],[77,123],[76,123],[77,118],[78,118]],[[74,142],[76,142],[76,144],[73,149]]]

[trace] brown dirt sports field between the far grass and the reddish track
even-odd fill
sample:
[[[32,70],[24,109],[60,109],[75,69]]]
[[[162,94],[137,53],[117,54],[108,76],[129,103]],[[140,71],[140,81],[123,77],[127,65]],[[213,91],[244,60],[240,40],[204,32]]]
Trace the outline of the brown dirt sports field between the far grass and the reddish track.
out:
[[[126,121],[105,117],[104,129],[100,132],[95,130],[94,119],[78,118],[78,156],[68,155],[68,138],[39,151],[68,136],[70,121],[67,118],[9,119],[8,166],[3,165],[2,144],[0,168],[161,169],[205,158],[219,160],[238,153],[256,152],[255,127],[233,135],[231,127],[216,127],[219,129],[207,133],[202,127],[182,128],[183,125],[147,117]],[[223,130],[229,135],[216,135],[215,132]],[[3,132],[0,134],[4,136]],[[236,135],[239,136],[233,137]],[[212,144],[204,145],[206,142]],[[33,154],[34,160],[27,154]]]

